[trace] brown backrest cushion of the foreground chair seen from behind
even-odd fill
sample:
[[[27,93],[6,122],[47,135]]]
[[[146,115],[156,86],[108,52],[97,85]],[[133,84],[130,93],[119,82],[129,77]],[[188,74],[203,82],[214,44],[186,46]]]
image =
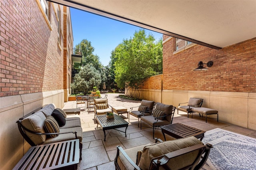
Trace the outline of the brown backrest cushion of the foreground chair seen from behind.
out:
[[[165,142],[152,144],[150,146],[145,146],[143,148],[138,166],[143,170],[149,169],[150,162],[151,162],[152,158],[162,156],[164,154],[173,152],[175,150],[187,148],[189,146],[194,146],[196,144],[203,144],[203,143],[200,140],[198,140],[197,138],[195,138],[194,136],[191,136],[188,138],[169,140],[169,141],[165,141]],[[184,154],[182,156],[172,158],[168,162],[168,165],[170,164],[170,167],[172,169],[180,169],[180,168],[186,166],[191,161],[193,161],[193,158],[195,157],[195,155],[197,156],[197,154],[198,154],[198,151],[195,151],[195,152],[192,152],[192,154]]]

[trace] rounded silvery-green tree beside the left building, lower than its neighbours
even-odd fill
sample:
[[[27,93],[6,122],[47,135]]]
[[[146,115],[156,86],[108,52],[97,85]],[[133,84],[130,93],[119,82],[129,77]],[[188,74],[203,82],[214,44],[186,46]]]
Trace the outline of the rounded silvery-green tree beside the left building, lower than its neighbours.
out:
[[[86,64],[74,77],[74,92],[82,91],[86,93],[93,89],[94,86],[100,86],[100,84],[100,71],[96,70],[91,64]]]

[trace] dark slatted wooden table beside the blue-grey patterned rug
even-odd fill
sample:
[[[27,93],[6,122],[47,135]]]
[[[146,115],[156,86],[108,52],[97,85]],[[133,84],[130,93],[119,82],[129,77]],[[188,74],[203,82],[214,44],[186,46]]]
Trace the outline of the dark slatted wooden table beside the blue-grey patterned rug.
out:
[[[170,125],[166,125],[161,127],[163,135],[166,133],[176,139],[185,138],[188,136],[195,136],[196,138],[202,139],[204,138],[205,131],[190,127],[188,125],[183,125],[181,123],[174,123]],[[164,140],[166,140],[164,135]]]

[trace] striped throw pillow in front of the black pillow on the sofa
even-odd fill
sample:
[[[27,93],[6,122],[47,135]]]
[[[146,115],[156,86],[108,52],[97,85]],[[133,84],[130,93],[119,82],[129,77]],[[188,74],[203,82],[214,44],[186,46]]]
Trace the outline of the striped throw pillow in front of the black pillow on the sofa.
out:
[[[44,128],[45,128],[46,133],[60,132],[60,127],[59,127],[57,121],[52,116],[46,117],[46,119],[44,121]],[[55,138],[55,137],[59,136],[59,134],[50,134],[49,136],[51,138]]]

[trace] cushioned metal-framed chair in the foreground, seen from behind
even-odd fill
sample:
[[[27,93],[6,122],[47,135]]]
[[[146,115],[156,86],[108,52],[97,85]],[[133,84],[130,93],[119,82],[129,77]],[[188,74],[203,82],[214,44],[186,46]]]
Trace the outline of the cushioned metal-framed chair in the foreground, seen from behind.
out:
[[[205,164],[212,145],[204,145],[191,136],[125,150],[121,146],[116,148],[116,170],[199,170]]]

